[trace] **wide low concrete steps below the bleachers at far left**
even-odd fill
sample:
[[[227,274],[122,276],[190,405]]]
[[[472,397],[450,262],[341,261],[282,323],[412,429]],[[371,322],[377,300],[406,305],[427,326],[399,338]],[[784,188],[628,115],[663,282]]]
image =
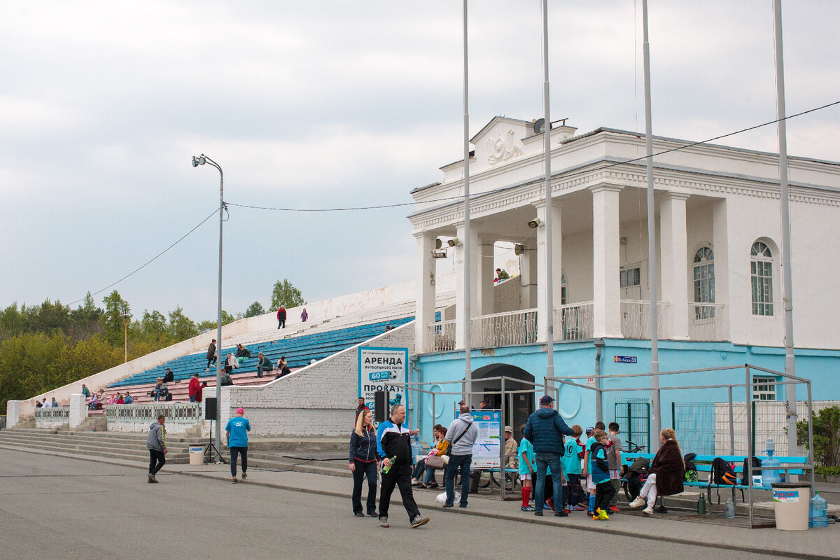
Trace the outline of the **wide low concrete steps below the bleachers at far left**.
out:
[[[204,437],[167,436],[167,463],[189,463],[189,447],[207,443]],[[123,432],[57,432],[14,427],[0,431],[0,446],[40,449],[56,453],[78,455],[81,458],[100,457],[126,461],[149,460],[146,434]]]

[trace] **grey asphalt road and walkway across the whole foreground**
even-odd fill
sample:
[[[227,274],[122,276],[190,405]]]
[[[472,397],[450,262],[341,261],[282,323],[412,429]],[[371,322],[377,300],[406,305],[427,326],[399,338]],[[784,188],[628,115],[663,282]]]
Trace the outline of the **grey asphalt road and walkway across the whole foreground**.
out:
[[[487,499],[443,510],[433,493],[417,492],[428,525],[412,529],[395,497],[391,528],[381,529],[352,516],[349,479],[252,468],[247,484],[231,484],[226,465],[167,465],[160,484],[148,484],[144,472],[138,463],[0,449],[0,557],[588,559],[599,547],[668,560],[840,557],[835,526],[790,532],[623,514],[535,518],[515,502]]]

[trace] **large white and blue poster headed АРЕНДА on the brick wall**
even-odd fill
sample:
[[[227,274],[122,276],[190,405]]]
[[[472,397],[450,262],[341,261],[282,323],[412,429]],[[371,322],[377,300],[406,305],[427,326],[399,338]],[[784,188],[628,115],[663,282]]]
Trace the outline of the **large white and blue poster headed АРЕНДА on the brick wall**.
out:
[[[391,405],[406,405],[406,390],[386,387],[387,382],[405,384],[408,348],[359,347],[359,395],[365,405],[374,411],[375,391],[391,392]],[[386,412],[386,415],[388,413]]]

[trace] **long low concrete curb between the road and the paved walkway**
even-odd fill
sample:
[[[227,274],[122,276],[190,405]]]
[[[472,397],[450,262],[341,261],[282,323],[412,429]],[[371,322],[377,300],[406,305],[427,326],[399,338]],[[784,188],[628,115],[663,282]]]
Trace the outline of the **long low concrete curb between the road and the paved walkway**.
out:
[[[39,455],[54,455],[56,457],[63,457],[63,458],[72,458],[72,459],[79,459],[82,461],[94,461],[96,463],[105,463],[105,464],[112,464],[117,465],[120,467],[130,467],[130,468],[138,468],[145,470],[146,466],[144,464],[136,464],[131,463],[128,460],[124,462],[117,462],[112,459],[100,459],[100,458],[87,458],[87,457],[79,457],[77,455],[71,455],[69,453],[55,453],[49,452],[42,449],[29,449],[29,448],[22,448],[22,447],[9,447],[0,443],[0,448],[8,449],[10,451],[18,451],[23,453],[37,453]],[[198,473],[198,472],[187,472],[187,471],[169,471],[170,474],[181,474],[183,476],[193,476],[202,479],[215,479],[219,481],[223,481],[223,478],[220,478],[216,474],[208,474],[208,473]],[[253,484],[255,486],[262,486],[265,488],[273,488],[273,489],[280,489],[280,490],[287,490],[290,492],[300,492],[302,494],[312,494],[312,495],[323,495],[323,496],[331,496],[335,498],[343,498],[348,499],[350,497],[350,492],[334,492],[332,490],[319,490],[319,489],[310,489],[310,488],[301,488],[299,486],[291,486],[288,484],[276,484],[271,482],[256,482],[253,480],[239,480],[239,484]],[[522,516],[512,516],[507,513],[489,513],[486,511],[475,511],[475,510],[454,510],[454,508],[447,508],[444,509],[441,505],[424,505],[424,508],[432,509],[434,511],[448,514],[448,515],[460,515],[460,516],[478,516],[478,517],[486,517],[490,519],[499,519],[504,521],[516,521],[519,523],[532,523],[537,525],[543,526],[553,526],[553,527],[561,527],[564,529],[574,529],[580,531],[590,531],[590,532],[597,532],[603,533],[606,531],[610,532],[611,534],[619,535],[619,536],[627,536],[632,538],[644,539],[648,541],[659,541],[659,542],[673,542],[675,544],[685,544],[691,546],[700,546],[700,547],[710,547],[710,548],[720,548],[724,550],[733,550],[738,552],[756,552],[755,547],[748,547],[742,546],[738,544],[729,544],[729,543],[704,543],[704,542],[696,542],[691,541],[690,539],[675,537],[675,536],[659,536],[659,535],[649,535],[647,533],[638,533],[634,531],[626,531],[622,529],[614,529],[610,526],[598,525],[598,526],[570,526],[566,525],[560,521],[554,521],[554,519],[547,517],[541,520],[538,519],[528,519],[522,518]],[[676,520],[662,520],[662,521],[676,521]],[[751,530],[750,530],[751,531]],[[823,556],[821,554],[809,554],[807,552],[790,552],[787,550],[779,550],[775,548],[765,548],[761,551],[762,554],[774,554],[777,556],[790,556],[795,555],[798,558],[806,558],[807,560],[837,560],[837,557],[832,556]]]

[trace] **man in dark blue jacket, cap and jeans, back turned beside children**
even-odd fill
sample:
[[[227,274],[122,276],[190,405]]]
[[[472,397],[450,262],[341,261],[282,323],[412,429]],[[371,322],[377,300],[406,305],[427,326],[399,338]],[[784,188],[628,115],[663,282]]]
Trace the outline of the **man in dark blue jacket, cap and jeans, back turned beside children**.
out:
[[[537,459],[537,484],[534,489],[533,515],[543,516],[543,504],[545,504],[545,472],[551,468],[551,479],[554,482],[554,516],[566,517],[563,510],[563,501],[560,496],[563,492],[563,470],[560,458],[563,457],[564,441],[563,436],[571,436],[575,432],[563,421],[563,418],[554,410],[554,399],[549,395],[543,395],[539,399],[539,408],[525,424],[522,435],[533,443],[533,451]]]

